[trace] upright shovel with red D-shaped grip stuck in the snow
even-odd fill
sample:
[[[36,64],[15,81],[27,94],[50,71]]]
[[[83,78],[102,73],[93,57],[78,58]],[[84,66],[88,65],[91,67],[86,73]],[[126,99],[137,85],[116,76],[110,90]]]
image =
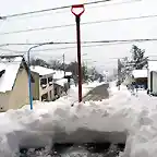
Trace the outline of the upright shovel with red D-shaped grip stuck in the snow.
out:
[[[71,8],[71,12],[75,15],[75,20],[76,20],[77,64],[78,64],[78,102],[82,101],[82,65],[81,65],[80,21],[81,21],[81,15],[84,13],[84,11],[85,11],[84,4],[75,4],[75,5],[72,5],[72,8]]]

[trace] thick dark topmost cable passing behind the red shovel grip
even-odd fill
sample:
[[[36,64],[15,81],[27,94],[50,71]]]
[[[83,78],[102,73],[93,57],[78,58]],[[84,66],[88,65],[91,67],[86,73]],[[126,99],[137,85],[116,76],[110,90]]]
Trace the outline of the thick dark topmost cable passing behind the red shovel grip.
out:
[[[104,2],[108,2],[108,1],[111,1],[111,0],[98,0],[98,1],[94,1],[94,2],[86,2],[84,4],[89,5],[89,4],[104,3]],[[64,10],[64,9],[71,8],[71,7],[72,5],[64,5],[64,7],[51,8],[51,9],[45,9],[45,10],[37,10],[37,11],[17,13],[17,14],[10,14],[10,15],[5,15],[5,16],[0,16],[0,20],[17,17],[17,16],[24,16],[24,15],[28,15],[28,14],[37,14],[37,13],[43,13],[43,12],[56,11],[56,10]]]

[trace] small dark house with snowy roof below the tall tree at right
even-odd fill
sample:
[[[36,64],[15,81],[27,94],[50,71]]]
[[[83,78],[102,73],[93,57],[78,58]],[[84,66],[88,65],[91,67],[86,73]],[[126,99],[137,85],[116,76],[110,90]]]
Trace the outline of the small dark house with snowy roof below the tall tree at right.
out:
[[[147,88],[147,78],[148,78],[147,69],[133,70],[132,75],[133,75],[133,78],[134,78],[135,83],[138,86],[144,87],[145,89]]]

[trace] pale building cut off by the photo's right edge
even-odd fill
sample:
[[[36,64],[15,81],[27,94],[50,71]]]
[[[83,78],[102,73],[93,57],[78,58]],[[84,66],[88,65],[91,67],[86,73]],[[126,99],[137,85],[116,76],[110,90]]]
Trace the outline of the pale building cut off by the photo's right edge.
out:
[[[148,89],[157,95],[157,60],[148,60]]]

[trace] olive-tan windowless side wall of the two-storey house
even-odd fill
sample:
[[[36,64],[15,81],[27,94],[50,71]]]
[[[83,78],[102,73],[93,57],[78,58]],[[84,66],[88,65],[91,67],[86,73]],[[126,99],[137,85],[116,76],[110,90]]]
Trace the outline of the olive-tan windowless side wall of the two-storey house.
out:
[[[32,92],[34,100],[39,100],[39,74],[32,72],[35,83],[32,83]]]

